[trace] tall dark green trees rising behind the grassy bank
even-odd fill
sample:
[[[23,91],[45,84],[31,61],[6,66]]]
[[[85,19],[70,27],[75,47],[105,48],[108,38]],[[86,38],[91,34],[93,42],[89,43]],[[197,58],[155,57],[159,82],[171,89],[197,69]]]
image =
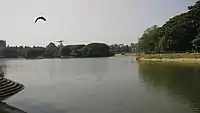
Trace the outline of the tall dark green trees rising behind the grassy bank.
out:
[[[141,52],[200,51],[200,1],[188,11],[169,19],[163,26],[147,28],[139,38]]]

